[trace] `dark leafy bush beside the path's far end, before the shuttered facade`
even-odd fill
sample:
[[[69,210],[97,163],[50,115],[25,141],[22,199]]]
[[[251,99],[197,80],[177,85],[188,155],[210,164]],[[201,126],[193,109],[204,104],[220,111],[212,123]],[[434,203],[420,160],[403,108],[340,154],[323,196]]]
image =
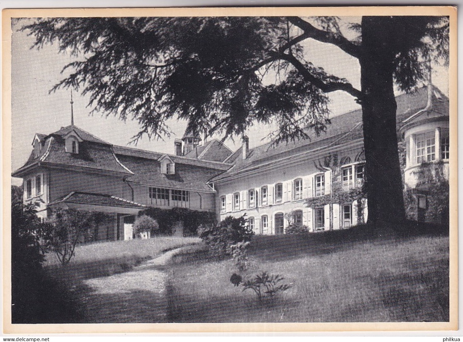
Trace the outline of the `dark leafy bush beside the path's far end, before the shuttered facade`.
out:
[[[199,233],[211,255],[217,257],[230,255],[232,244],[249,241],[254,234],[244,217],[232,216],[228,216],[219,224],[203,224]]]

